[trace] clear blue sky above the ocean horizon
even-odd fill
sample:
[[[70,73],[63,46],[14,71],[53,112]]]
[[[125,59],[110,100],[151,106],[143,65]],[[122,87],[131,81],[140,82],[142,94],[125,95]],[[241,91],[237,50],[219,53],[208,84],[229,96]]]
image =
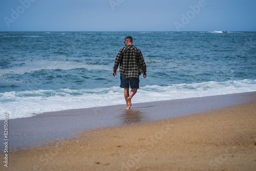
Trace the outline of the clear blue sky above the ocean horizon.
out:
[[[256,31],[255,0],[0,0],[0,31]]]

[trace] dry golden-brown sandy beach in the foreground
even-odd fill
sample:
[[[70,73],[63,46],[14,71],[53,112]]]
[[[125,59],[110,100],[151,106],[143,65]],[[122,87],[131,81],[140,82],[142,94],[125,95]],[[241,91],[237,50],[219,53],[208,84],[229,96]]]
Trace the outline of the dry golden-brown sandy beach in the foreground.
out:
[[[242,96],[250,100],[241,102]],[[217,105],[214,109],[204,105],[207,100],[201,99],[203,110],[189,115],[179,117],[175,115],[169,119],[160,118],[133,124],[126,122],[118,126],[106,126],[82,132],[75,138],[57,140],[43,146],[19,148],[8,154],[8,168],[4,167],[4,164],[0,168],[1,170],[255,170],[256,94],[236,97],[238,99],[236,102],[219,107]],[[219,99],[223,98],[219,97]],[[183,102],[186,104],[186,100]],[[212,102],[212,105],[214,103]],[[191,104],[195,103],[187,103],[188,108]],[[168,111],[171,106],[160,108],[159,111]],[[177,108],[176,110],[179,111]],[[159,111],[155,115],[161,115]],[[169,110],[172,111],[174,110]],[[134,115],[138,113],[131,115],[136,118],[137,116]]]

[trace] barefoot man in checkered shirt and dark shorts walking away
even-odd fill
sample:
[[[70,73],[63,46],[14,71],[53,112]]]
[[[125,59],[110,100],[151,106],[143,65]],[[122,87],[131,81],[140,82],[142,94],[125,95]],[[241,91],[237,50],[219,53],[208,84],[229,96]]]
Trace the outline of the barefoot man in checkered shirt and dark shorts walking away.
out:
[[[143,77],[146,78],[146,64],[141,51],[133,45],[133,38],[128,36],[124,40],[125,47],[120,49],[116,56],[112,75],[116,76],[120,64],[120,87],[124,88],[124,98],[129,109],[132,106],[132,98],[139,89],[139,76],[143,73]]]

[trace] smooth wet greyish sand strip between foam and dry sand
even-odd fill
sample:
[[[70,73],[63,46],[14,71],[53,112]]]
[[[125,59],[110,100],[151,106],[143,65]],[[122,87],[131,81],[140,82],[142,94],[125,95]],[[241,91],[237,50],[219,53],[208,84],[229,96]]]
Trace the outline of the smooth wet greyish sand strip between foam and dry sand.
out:
[[[129,126],[191,114],[205,113],[225,106],[255,101],[256,92],[219,96],[103,106],[38,114],[9,120],[9,148],[47,145],[55,140],[76,138],[82,132],[104,127]],[[0,123],[3,127],[3,122]],[[0,145],[3,147],[3,144]]]

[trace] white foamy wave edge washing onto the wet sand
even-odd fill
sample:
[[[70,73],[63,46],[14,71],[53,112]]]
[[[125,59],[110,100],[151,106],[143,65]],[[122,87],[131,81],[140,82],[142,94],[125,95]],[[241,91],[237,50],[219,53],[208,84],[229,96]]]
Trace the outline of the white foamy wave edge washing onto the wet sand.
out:
[[[256,80],[172,84],[141,87],[134,103],[204,97],[256,91]],[[119,87],[84,90],[35,90],[0,93],[0,115],[9,119],[31,117],[44,112],[125,104]],[[3,119],[3,118],[1,118]]]

